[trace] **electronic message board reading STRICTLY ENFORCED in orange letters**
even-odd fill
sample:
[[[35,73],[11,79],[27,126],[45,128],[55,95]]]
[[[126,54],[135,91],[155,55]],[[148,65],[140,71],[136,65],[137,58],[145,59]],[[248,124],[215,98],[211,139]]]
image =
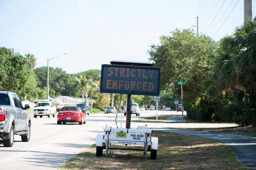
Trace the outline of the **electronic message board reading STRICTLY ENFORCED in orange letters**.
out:
[[[159,96],[160,75],[160,67],[103,64],[100,92]]]

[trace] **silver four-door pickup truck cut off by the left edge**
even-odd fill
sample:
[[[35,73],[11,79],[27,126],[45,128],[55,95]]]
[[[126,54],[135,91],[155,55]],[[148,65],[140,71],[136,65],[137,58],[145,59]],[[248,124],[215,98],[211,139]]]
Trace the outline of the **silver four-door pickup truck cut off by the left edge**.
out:
[[[0,138],[5,147],[12,147],[14,134],[20,135],[21,140],[30,139],[31,119],[26,111],[29,105],[22,106],[17,94],[9,91],[0,91]]]

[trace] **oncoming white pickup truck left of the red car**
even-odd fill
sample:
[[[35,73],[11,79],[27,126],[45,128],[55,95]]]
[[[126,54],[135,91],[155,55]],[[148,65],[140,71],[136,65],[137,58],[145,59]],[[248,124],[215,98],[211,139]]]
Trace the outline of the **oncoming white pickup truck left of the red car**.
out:
[[[56,107],[52,105],[51,102],[40,102],[37,103],[34,109],[34,118],[37,116],[43,117],[43,116],[48,116],[48,117],[55,117],[56,114]]]

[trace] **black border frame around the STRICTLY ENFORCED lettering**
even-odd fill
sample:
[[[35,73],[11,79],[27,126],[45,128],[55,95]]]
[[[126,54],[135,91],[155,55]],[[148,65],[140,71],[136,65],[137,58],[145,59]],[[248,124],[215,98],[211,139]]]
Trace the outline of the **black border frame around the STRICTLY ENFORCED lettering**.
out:
[[[120,67],[120,68],[135,68],[135,69],[152,69],[152,70],[158,70],[158,82],[157,82],[157,92],[144,92],[144,91],[137,91],[137,92],[125,92],[122,90],[116,90],[116,89],[111,89],[111,90],[103,90],[103,72],[104,72],[104,67]],[[127,95],[147,95],[147,96],[159,96],[160,95],[160,79],[161,79],[161,68],[160,67],[147,67],[147,66],[130,66],[130,65],[110,65],[110,64],[102,64],[101,65],[101,86],[100,86],[100,92],[101,93],[115,93],[115,94],[127,94]]]

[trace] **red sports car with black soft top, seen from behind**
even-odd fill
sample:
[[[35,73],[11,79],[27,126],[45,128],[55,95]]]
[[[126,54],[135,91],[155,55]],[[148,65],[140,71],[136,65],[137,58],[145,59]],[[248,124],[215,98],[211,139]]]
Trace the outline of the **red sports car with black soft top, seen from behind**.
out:
[[[86,114],[82,112],[80,107],[65,106],[61,109],[57,117],[57,124],[66,124],[66,122],[79,124],[86,123]]]

